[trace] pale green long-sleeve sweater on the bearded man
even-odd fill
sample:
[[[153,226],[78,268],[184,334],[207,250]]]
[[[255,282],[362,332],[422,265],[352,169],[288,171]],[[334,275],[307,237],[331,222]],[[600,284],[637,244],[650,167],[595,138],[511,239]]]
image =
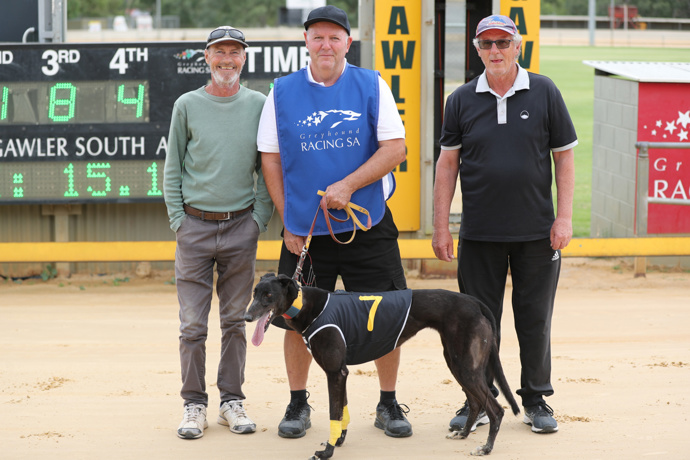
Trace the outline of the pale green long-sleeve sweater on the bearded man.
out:
[[[256,132],[266,96],[243,86],[217,97],[204,88],[180,96],[173,107],[165,158],[164,194],[170,228],[180,227],[182,204],[211,212],[254,204],[261,231],[273,203],[260,169]]]

